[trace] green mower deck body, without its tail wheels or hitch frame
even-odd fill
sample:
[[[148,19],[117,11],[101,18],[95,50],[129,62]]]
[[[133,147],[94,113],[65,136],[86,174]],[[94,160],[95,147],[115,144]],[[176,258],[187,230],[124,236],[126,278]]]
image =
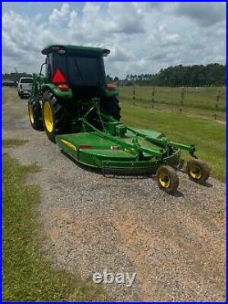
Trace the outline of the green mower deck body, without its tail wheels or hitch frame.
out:
[[[121,138],[111,135],[107,138],[107,133],[101,131],[64,134],[57,135],[56,141],[77,162],[107,173],[156,173],[161,164],[178,165],[179,148],[161,157],[167,141],[161,133],[132,131]]]

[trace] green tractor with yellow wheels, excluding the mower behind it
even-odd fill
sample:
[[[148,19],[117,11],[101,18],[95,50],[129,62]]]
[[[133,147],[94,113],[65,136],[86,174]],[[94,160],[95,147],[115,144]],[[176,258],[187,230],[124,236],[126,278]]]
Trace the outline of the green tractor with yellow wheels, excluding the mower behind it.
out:
[[[118,92],[106,85],[103,57],[108,49],[98,47],[49,46],[42,50],[46,61],[34,74],[32,97],[28,102],[32,127],[47,132],[52,142],[57,134],[71,130],[72,124],[90,107],[92,99],[100,100],[100,109],[120,119]],[[42,70],[45,67],[45,76]]]

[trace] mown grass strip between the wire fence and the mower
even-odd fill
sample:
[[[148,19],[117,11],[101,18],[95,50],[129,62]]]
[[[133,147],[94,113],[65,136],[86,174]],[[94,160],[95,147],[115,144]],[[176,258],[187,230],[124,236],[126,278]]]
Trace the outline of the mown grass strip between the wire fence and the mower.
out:
[[[121,103],[122,121],[153,131],[164,132],[172,141],[194,143],[197,156],[212,167],[212,176],[225,181],[225,125],[177,113],[149,110]],[[186,152],[183,154],[188,159]]]

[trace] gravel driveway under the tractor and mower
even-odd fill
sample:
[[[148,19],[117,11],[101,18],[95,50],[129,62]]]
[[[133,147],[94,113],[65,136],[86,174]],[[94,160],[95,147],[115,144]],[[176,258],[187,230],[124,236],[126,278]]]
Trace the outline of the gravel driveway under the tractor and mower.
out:
[[[225,185],[207,186],[179,173],[176,196],[162,193],[153,177],[103,176],[78,167],[33,131],[26,100],[16,91],[3,106],[3,137],[28,142],[10,155],[40,173],[38,214],[44,249],[55,267],[82,278],[108,269],[137,273],[131,288],[104,284],[117,300],[225,300]]]

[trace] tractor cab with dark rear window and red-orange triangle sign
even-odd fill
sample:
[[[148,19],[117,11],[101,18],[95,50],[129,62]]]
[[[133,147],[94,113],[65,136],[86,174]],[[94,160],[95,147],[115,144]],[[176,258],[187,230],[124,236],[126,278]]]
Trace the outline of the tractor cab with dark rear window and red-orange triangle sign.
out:
[[[100,97],[106,88],[103,57],[109,49],[79,46],[48,46],[42,50],[47,55],[47,83],[54,83],[60,89],[72,89],[78,99]]]

